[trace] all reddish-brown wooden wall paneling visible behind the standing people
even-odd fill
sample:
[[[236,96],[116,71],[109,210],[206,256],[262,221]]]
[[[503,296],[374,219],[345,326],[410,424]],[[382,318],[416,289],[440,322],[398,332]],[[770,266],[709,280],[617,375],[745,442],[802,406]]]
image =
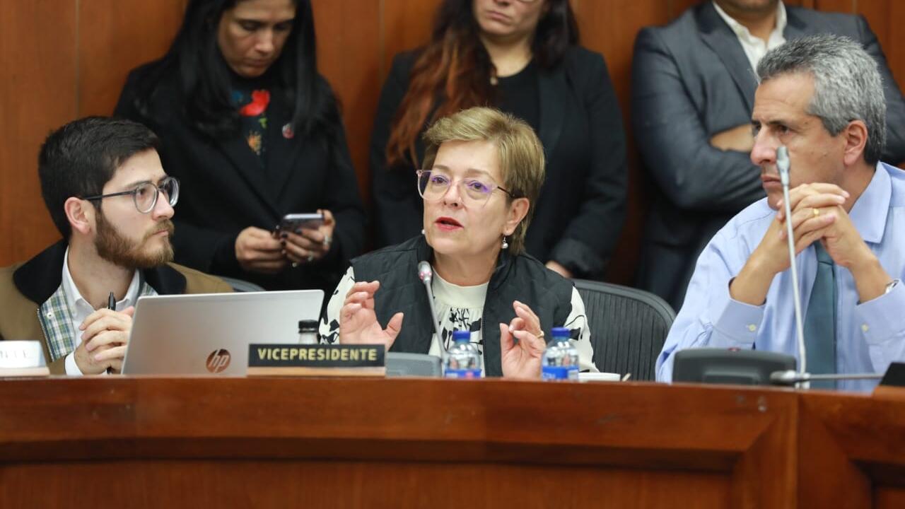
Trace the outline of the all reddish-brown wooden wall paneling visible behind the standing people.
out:
[[[396,53],[425,43],[441,0],[313,0],[320,67],[344,107],[349,149],[369,199],[367,145],[380,87]],[[696,0],[572,0],[586,46],[603,53],[629,126],[632,44],[639,28],[665,24]],[[892,72],[905,80],[905,2],[789,0],[864,14]],[[50,6],[52,5],[52,7]],[[35,158],[54,127],[109,114],[129,69],[164,53],[186,0],[4,2],[0,17],[0,264],[27,258],[58,235],[40,198]],[[27,97],[27,100],[23,100]],[[645,210],[638,157],[629,139],[630,198],[610,280],[631,283]]]

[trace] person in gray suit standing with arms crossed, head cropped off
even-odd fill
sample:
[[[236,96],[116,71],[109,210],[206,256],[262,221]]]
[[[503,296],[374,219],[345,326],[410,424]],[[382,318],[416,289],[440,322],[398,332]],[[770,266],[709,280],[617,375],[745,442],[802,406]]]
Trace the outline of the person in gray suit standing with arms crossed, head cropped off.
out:
[[[749,158],[757,62],[787,40],[812,34],[848,36],[879,63],[888,107],[882,159],[905,161],[905,100],[860,15],[779,0],[708,0],[671,24],[643,28],[635,40],[633,130],[653,179],[636,283],[677,311],[703,247],[764,197]]]

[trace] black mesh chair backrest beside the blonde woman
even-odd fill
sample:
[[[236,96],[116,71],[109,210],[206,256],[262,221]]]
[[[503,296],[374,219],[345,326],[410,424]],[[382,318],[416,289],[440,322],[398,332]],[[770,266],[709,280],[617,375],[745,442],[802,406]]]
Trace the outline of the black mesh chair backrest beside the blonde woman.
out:
[[[672,307],[636,288],[583,279],[573,282],[585,301],[597,369],[653,380],[657,356],[676,318]]]

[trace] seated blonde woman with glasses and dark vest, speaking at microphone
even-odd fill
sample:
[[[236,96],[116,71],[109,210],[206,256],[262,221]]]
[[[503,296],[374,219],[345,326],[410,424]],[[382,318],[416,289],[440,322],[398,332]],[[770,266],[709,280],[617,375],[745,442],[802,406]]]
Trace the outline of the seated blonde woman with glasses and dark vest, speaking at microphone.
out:
[[[525,253],[544,182],[537,135],[509,114],[471,108],[435,121],[424,139],[422,235],[352,260],[321,340],[441,356],[452,331],[470,331],[486,376],[538,379],[550,329],[567,327],[579,370],[596,371],[585,303],[570,280]],[[433,267],[433,307],[422,261]]]

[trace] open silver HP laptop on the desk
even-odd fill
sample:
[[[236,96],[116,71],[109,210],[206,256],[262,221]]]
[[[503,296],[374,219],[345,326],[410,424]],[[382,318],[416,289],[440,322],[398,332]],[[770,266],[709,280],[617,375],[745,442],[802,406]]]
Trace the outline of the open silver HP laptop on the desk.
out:
[[[138,299],[124,375],[244,376],[251,343],[298,343],[321,290],[156,295]]]

